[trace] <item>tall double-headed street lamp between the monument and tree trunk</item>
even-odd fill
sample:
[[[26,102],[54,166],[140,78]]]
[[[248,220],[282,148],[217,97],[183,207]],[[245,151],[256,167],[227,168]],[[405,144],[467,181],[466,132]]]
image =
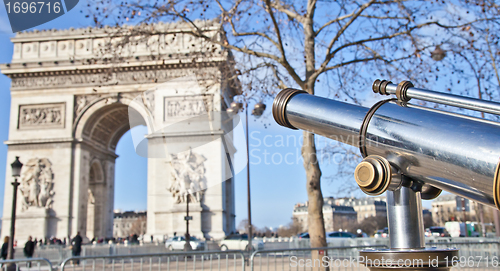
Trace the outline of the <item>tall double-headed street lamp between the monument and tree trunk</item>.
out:
[[[248,101],[245,104],[240,102],[232,102],[231,106],[226,110],[228,114],[237,114],[238,112],[245,110],[245,132],[246,132],[246,143],[247,143],[247,205],[248,205],[248,250],[253,250],[252,246],[252,207],[250,200],[250,150],[248,143]],[[252,115],[259,118],[266,110],[266,105],[262,102],[258,102],[253,110]]]

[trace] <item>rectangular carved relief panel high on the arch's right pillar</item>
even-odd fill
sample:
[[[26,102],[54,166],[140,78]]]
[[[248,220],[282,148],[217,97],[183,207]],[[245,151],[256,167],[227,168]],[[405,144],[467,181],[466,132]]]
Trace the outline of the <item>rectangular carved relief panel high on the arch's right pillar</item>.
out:
[[[193,117],[211,111],[212,95],[165,97],[165,116],[169,118]]]

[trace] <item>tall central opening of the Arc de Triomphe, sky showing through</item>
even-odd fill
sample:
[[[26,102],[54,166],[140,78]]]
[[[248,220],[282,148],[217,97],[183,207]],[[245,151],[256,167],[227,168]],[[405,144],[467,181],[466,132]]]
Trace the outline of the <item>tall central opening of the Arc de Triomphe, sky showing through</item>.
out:
[[[131,179],[124,180],[130,176],[141,175],[140,185],[144,186],[142,199],[147,199],[147,158],[135,154],[134,146],[130,137],[129,111],[139,115],[137,111],[130,109],[123,103],[104,104],[97,109],[89,110],[85,121],[80,127],[82,149],[88,154],[89,166],[84,174],[88,176],[88,182],[82,184],[82,201],[80,214],[80,232],[85,234],[88,240],[106,240],[114,237],[115,225],[113,223],[116,185],[115,179],[119,180],[121,187],[130,187]],[[140,123],[138,123],[140,125]],[[144,126],[143,126],[144,127]],[[78,127],[76,127],[78,130]],[[132,127],[132,129],[144,129]],[[146,133],[147,133],[147,129]],[[127,133],[128,132],[128,133]],[[127,136],[128,135],[128,136]],[[122,140],[124,139],[124,140]],[[125,141],[123,147],[117,151],[119,142]],[[121,157],[120,157],[121,156]],[[135,159],[134,159],[135,158]],[[141,161],[142,160],[142,161]],[[116,170],[118,163],[119,170]],[[142,166],[138,165],[141,164]],[[140,168],[140,170],[138,170]],[[134,171],[136,174],[134,174]],[[125,173],[125,174],[123,174]],[[123,189],[122,189],[123,190]],[[136,191],[125,189],[118,197],[118,203],[125,198],[135,198]],[[128,208],[127,206],[123,206]],[[118,205],[118,208],[122,206]],[[146,209],[146,208],[143,208]],[[83,228],[84,227],[84,228]]]

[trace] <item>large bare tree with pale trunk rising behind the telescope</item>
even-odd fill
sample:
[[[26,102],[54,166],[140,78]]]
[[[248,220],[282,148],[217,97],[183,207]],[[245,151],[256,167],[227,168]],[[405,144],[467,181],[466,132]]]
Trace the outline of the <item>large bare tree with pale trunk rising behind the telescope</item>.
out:
[[[132,23],[144,35],[150,23],[184,22],[188,34],[234,54],[245,97],[264,99],[296,87],[362,103],[366,92],[360,90],[370,89],[371,76],[423,79],[427,56],[437,44],[433,34],[452,35],[491,19],[469,16],[456,22],[450,19],[450,6],[477,13],[483,2],[138,0],[112,6],[104,0],[90,15],[97,25]],[[204,19],[220,24],[220,35],[207,35]],[[303,132],[303,138],[311,246],[324,247],[322,172],[314,134]]]

